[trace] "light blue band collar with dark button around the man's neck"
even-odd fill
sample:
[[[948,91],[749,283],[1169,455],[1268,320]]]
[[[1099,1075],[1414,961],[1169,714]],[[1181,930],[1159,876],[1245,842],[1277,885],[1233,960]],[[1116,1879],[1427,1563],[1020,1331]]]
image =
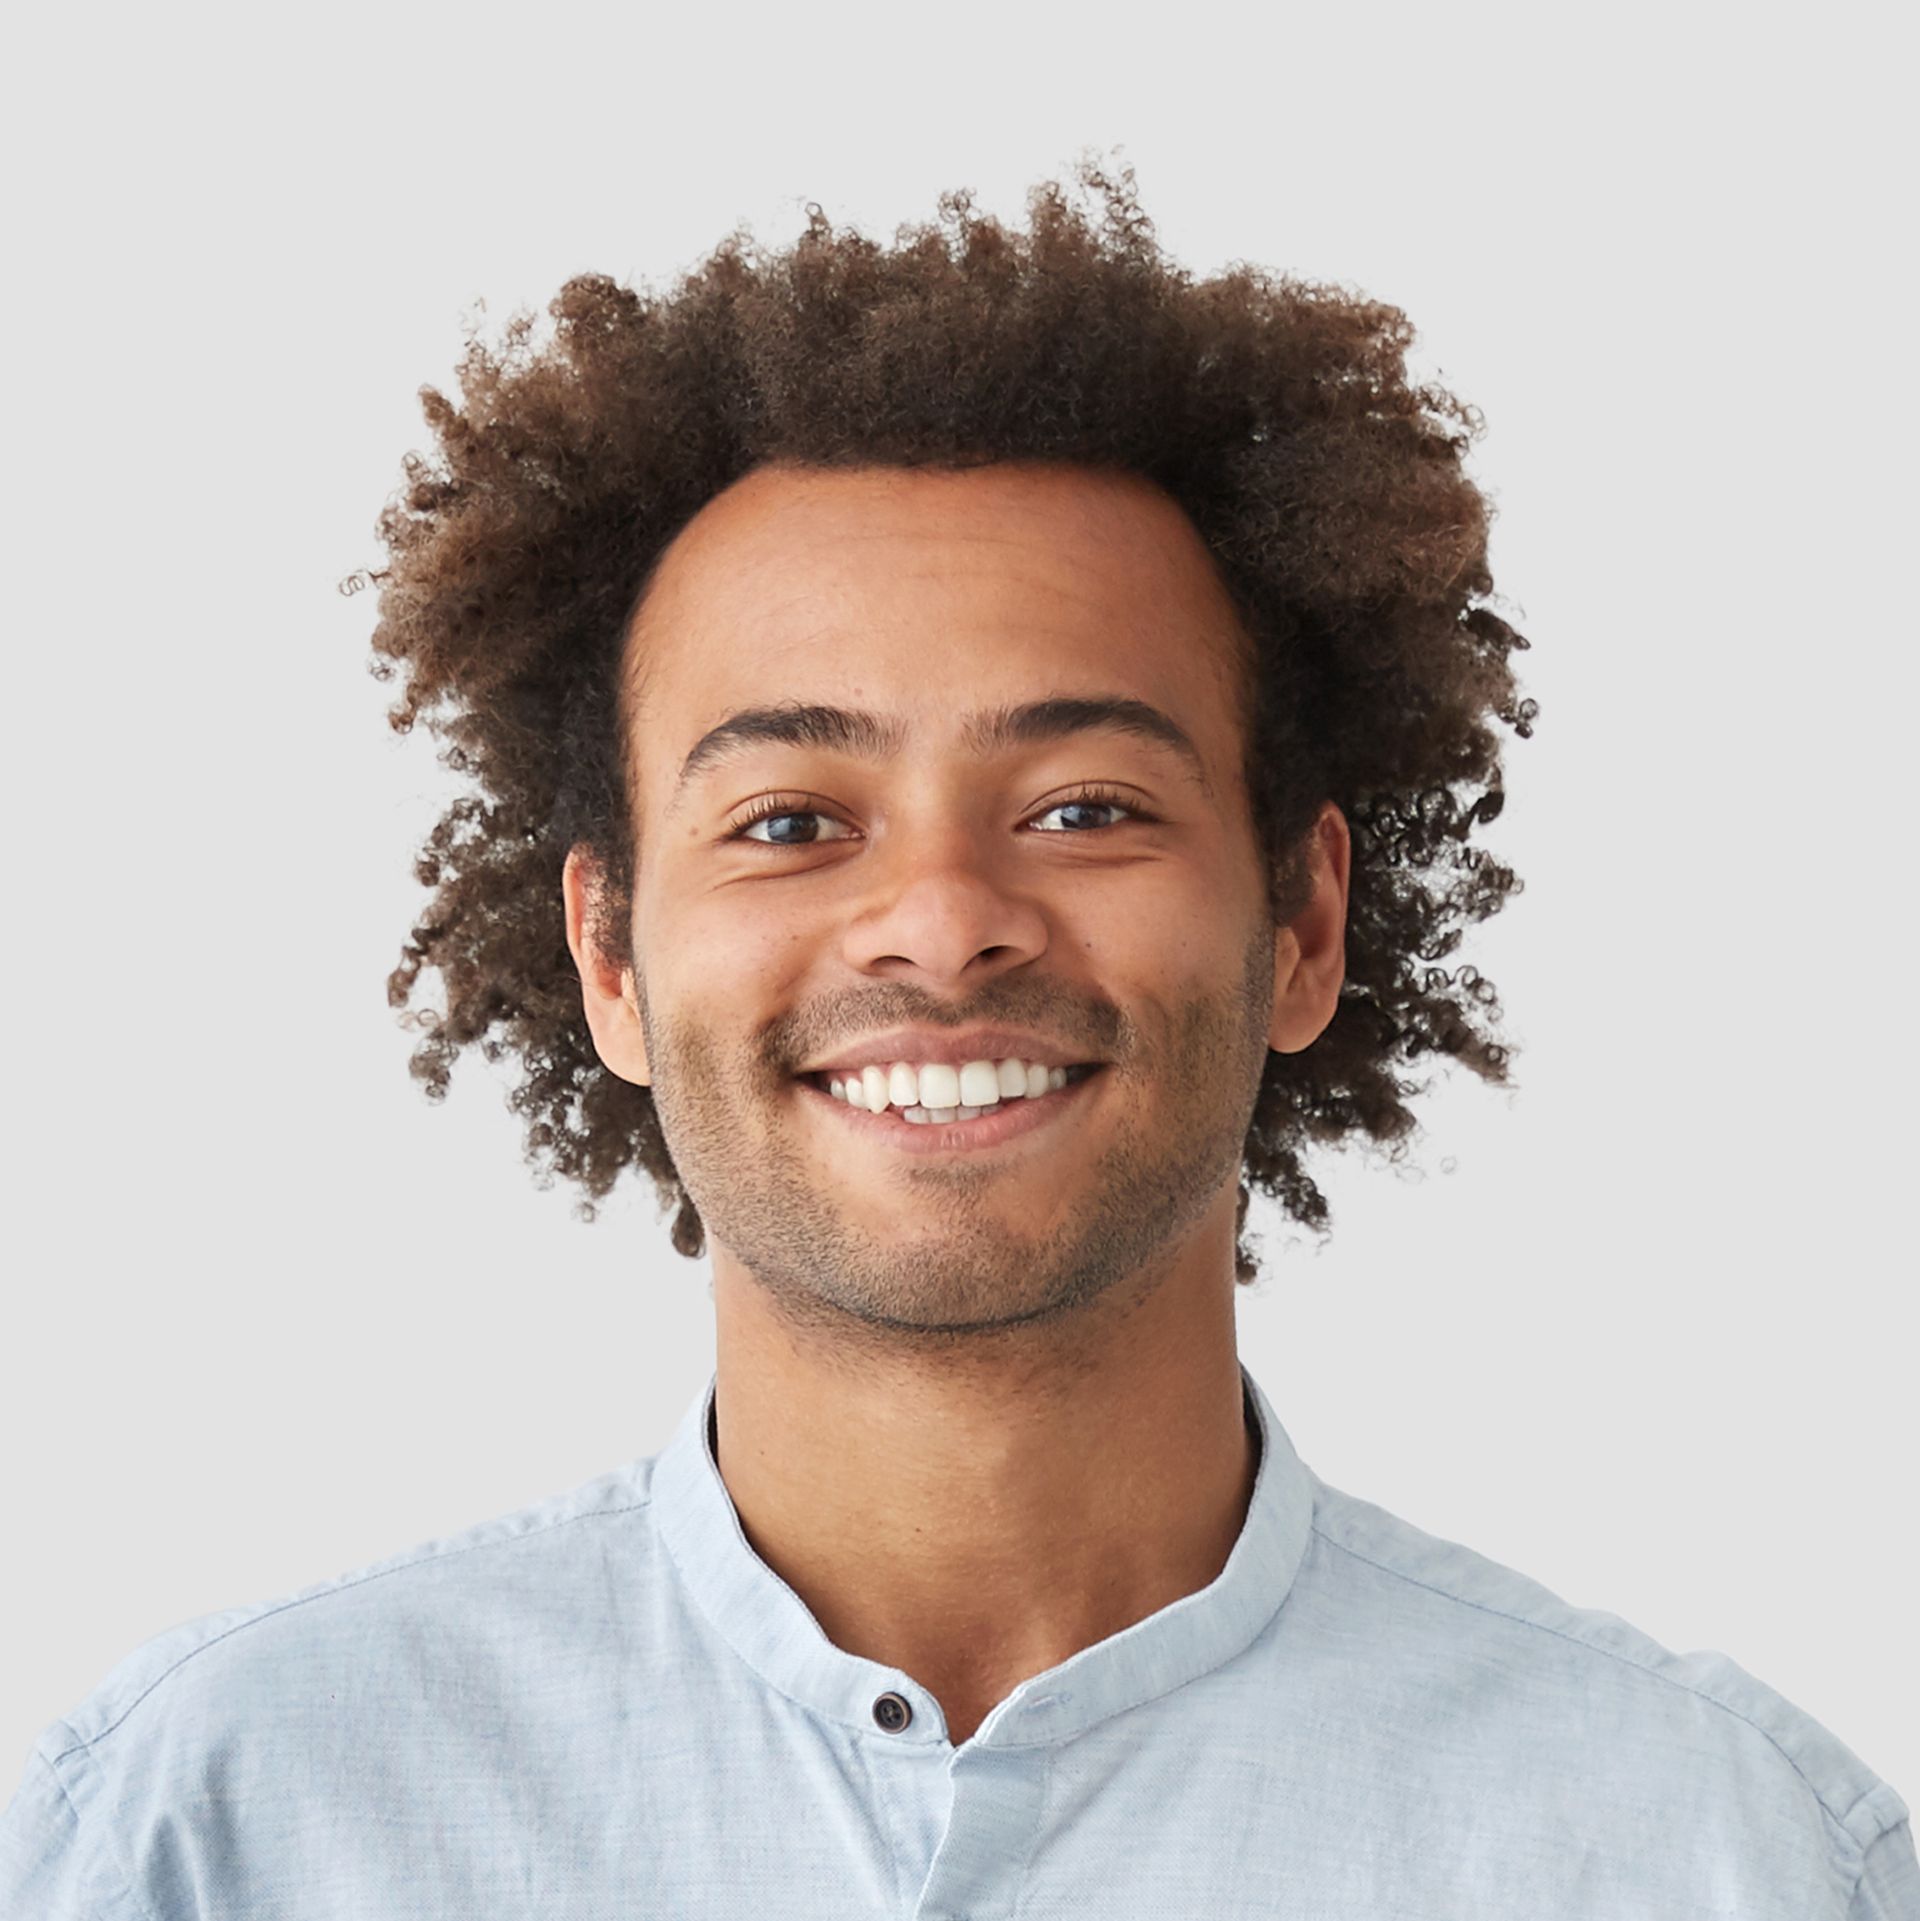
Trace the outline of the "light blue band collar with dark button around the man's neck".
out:
[[[1069,1740],[1230,1662],[1280,1610],[1307,1552],[1313,1475],[1245,1362],[1240,1381],[1261,1458],[1226,1566],[1207,1587],[1022,1681],[974,1729],[974,1746]],[[942,1742],[942,1717],[928,1689],[903,1667],[865,1660],[828,1641],[800,1594],[748,1543],[713,1452],[717,1383],[715,1370],[652,1471],[653,1523],[680,1583],[734,1654],[782,1694],[867,1735],[898,1721],[874,1714],[882,1694],[898,1694],[913,1712],[888,1739],[909,1746]]]

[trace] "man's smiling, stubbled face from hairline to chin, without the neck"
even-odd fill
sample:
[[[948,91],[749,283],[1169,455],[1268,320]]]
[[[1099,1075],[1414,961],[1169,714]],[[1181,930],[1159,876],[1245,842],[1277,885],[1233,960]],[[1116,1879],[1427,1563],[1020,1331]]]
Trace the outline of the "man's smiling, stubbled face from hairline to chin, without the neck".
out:
[[[1276,1003],[1232,632],[1180,509],[1084,469],[767,467],[680,534],[628,647],[632,1014],[594,1024],[717,1264],[813,1324],[961,1339],[1218,1220]],[[1111,724],[978,751],[980,717],[1059,699],[1144,703],[1194,755]],[[746,738],[682,780],[767,707],[873,715],[898,749]],[[801,1078],[959,1064],[982,1024],[1097,1070],[953,1128]],[[880,1045],[901,1026],[955,1045]]]

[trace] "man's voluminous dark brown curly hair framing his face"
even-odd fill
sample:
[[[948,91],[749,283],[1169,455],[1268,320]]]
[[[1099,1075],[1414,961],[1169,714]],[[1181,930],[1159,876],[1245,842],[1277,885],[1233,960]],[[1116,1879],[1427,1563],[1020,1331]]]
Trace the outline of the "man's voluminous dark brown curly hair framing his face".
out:
[[[582,273],[550,304],[548,344],[529,311],[498,352],[469,336],[463,405],[421,388],[438,455],[406,455],[377,523],[371,672],[406,665],[388,722],[425,717],[480,791],[419,851],[432,901],[388,1003],[440,970],[444,1016],[400,1016],[429,1035],[409,1062],[429,1099],[461,1049],[519,1057],[509,1106],[534,1185],[575,1181],[582,1220],[636,1164],[661,1216],[677,1210],[673,1247],[705,1252],[652,1089],[594,1049],[559,874],[586,843],[588,937],[628,955],[627,636],[675,534],[771,461],[1128,469],[1211,551],[1247,640],[1243,776],[1276,928],[1311,897],[1320,803],[1351,830],[1345,980],[1313,1045],[1267,1058],[1236,1281],[1259,1274],[1253,1187],[1330,1231],[1309,1141],[1401,1158],[1424,1091],[1401,1066],[1449,1055],[1507,1082],[1493,984],[1436,964],[1522,888],[1468,845],[1503,799],[1489,717],[1524,738],[1538,711],[1514,699],[1509,653],[1528,642],[1491,611],[1491,507],[1463,471],[1484,421],[1409,384],[1401,309],[1245,263],[1195,282],[1155,244],[1132,169],[1113,181],[1082,158],[1076,175],[1105,200],[1099,223],[1044,182],[1028,232],[1009,232],[957,190],[886,250],[809,202],[790,250],[736,227],[665,298]]]

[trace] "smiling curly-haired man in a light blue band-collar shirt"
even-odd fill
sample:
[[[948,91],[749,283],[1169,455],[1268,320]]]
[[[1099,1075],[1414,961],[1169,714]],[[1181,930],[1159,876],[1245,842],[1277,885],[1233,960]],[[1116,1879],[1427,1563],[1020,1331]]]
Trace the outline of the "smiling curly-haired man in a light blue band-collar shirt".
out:
[[[1322,1220],[1422,1037],[1501,1078],[1422,962],[1528,709],[1391,309],[1124,215],[573,282],[431,396],[377,645],[490,805],[400,987],[678,1204],[715,1375],[136,1650],[8,1913],[1920,1915],[1826,1729],[1322,1483],[1236,1356],[1249,1181]]]

